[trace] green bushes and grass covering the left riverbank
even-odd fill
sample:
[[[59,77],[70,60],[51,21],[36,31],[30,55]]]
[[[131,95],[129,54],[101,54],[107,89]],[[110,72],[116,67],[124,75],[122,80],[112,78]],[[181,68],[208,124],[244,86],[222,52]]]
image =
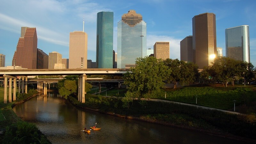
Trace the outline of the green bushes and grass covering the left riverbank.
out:
[[[2,93],[3,88],[0,88]],[[0,143],[2,144],[50,144],[51,142],[44,136],[35,124],[25,122],[18,117],[12,107],[35,97],[38,94],[36,90],[29,90],[28,93],[17,93],[17,100],[12,103],[4,104],[4,94],[0,96]]]

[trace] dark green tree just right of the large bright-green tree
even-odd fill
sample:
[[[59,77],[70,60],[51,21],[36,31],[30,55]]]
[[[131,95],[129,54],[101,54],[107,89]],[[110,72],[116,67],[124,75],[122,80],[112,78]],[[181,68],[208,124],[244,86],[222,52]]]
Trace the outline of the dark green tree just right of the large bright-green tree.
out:
[[[188,85],[196,80],[198,67],[193,62],[186,63],[178,59],[166,59],[164,64],[172,70],[167,77],[167,81],[168,83],[173,82],[173,88],[176,88],[177,82],[180,82],[181,85]]]

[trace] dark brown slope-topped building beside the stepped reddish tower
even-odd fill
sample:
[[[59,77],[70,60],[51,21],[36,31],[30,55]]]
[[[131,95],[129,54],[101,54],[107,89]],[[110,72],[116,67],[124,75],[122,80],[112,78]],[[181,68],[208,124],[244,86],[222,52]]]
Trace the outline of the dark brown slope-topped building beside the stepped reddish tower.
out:
[[[49,68],[49,56],[40,49],[37,49],[37,69],[47,69]]]

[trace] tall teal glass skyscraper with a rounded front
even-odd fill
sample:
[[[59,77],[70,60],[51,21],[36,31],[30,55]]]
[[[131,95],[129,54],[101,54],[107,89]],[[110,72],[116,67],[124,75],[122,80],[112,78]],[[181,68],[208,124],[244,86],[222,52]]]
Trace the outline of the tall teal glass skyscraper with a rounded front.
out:
[[[97,13],[97,68],[113,68],[113,20],[114,12]]]

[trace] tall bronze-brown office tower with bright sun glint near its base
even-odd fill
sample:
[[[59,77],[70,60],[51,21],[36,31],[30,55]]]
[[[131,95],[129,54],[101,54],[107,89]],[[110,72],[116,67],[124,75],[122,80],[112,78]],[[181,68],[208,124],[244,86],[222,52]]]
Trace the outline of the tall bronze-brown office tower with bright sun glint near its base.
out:
[[[216,18],[214,13],[193,17],[193,62],[198,69],[211,66],[217,57]]]

